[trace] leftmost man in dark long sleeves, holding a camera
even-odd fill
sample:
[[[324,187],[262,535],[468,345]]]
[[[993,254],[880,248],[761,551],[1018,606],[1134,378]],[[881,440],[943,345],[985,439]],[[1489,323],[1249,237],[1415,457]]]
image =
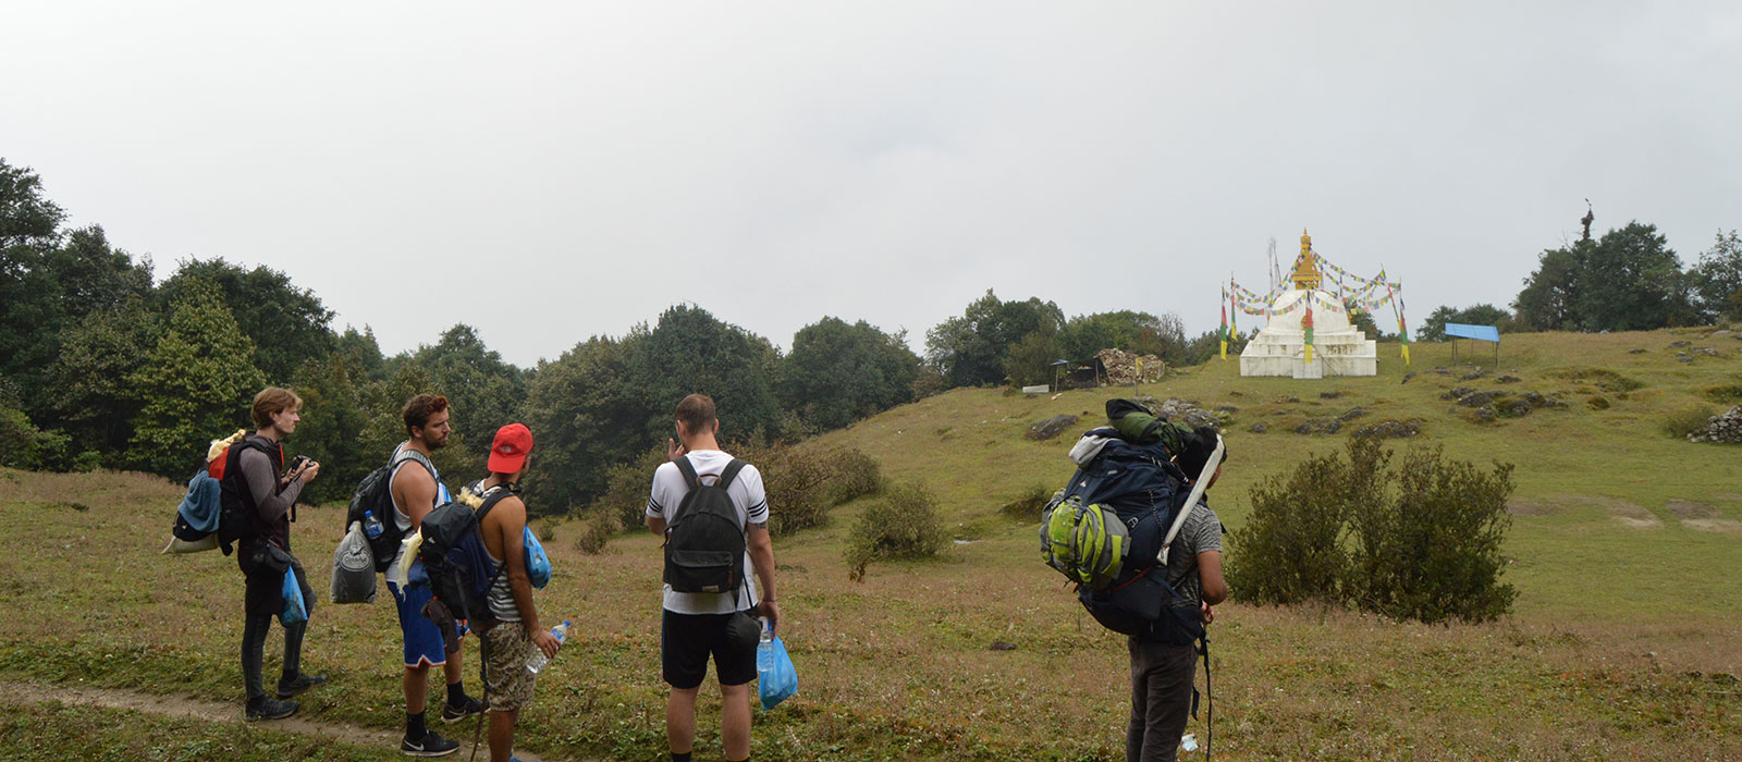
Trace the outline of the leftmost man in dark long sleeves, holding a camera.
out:
[[[272,616],[284,611],[286,574],[296,576],[305,607],[315,597],[308,588],[303,564],[291,555],[291,520],[296,496],[314,482],[321,465],[305,459],[284,473],[284,437],[296,431],[301,421],[303,400],[291,390],[270,386],[254,395],[249,411],[256,430],[230,445],[225,454],[219,499],[225,511],[240,511],[240,536],[235,562],[242,567],[247,592],[242,602],[242,680],[247,685],[246,717],[249,720],[279,720],[296,713],[296,701],[287,701],[310,687],[326,682],[326,675],[301,672],[303,633],[308,619],[284,625],[284,675],[279,678],[277,698],[268,698],[261,680],[261,652]],[[225,548],[228,550],[228,546]]]

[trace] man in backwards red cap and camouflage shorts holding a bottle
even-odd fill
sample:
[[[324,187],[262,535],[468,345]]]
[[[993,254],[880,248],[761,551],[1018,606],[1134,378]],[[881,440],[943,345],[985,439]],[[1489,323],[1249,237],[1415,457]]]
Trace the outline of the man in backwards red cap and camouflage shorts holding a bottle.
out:
[[[510,423],[496,431],[490,444],[490,475],[467,487],[488,511],[477,531],[484,553],[502,572],[490,585],[486,602],[491,625],[484,638],[484,696],[490,699],[490,759],[514,760],[514,724],[521,708],[533,699],[533,673],[526,668],[535,649],[545,658],[556,656],[561,642],[538,623],[533,605],[533,583],[526,564],[526,503],[521,499],[521,477],[526,475],[526,456],[533,451],[533,433],[524,424]]]

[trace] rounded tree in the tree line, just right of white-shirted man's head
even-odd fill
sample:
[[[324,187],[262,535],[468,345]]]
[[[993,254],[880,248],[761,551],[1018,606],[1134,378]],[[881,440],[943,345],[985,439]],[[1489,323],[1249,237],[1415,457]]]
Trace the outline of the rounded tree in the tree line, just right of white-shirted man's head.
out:
[[[920,358],[906,332],[826,317],[793,334],[780,362],[780,402],[819,430],[841,428],[913,398]]]

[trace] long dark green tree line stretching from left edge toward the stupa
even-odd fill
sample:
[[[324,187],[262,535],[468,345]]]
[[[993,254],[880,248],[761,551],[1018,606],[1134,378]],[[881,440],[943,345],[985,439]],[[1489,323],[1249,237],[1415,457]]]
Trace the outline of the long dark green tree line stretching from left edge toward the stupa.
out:
[[[780,351],[697,304],[535,367],[505,362],[465,324],[385,355],[282,271],[188,259],[153,284],[150,257],[64,221],[35,172],[0,160],[0,465],[186,478],[207,440],[247,426],[251,397],[279,384],[305,400],[294,451],[327,475],[305,494],[347,499],[404,438],[404,400],[432,391],[451,400],[456,428],[437,466],[483,471],[495,430],[524,421],[538,438],[535,508],[549,513],[589,505],[613,468],[662,445],[690,391],[718,400],[733,442],[768,445],[955,386],[1036,381],[1056,357],[1117,346],[1178,364],[1214,350],[1214,334],[1193,350],[1174,315],[1066,318],[988,291],[927,331],[923,358],[904,331],[836,317]]]

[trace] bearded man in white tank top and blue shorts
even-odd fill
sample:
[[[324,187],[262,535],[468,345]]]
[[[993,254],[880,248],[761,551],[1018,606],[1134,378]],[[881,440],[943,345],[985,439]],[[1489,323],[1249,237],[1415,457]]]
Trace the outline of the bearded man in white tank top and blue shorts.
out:
[[[411,534],[423,524],[423,517],[430,510],[451,499],[448,487],[441,484],[441,475],[430,463],[430,454],[448,445],[448,435],[453,428],[448,423],[448,398],[439,395],[413,397],[411,402],[406,402],[401,416],[408,438],[394,449],[388,494],[394,501],[394,525],[401,532]],[[399,558],[395,557],[394,567],[397,565]],[[423,564],[411,564],[404,590],[399,590],[392,581],[387,583],[387,588],[394,593],[399,609],[399,632],[406,656],[406,738],[399,743],[399,750],[409,757],[441,757],[458,752],[460,741],[442,738],[425,724],[430,666],[441,666],[448,677],[442,722],[476,717],[483,712],[483,703],[465,694],[460,668],[462,651],[448,656],[441,628],[423,616],[423,604],[432,598]]]

